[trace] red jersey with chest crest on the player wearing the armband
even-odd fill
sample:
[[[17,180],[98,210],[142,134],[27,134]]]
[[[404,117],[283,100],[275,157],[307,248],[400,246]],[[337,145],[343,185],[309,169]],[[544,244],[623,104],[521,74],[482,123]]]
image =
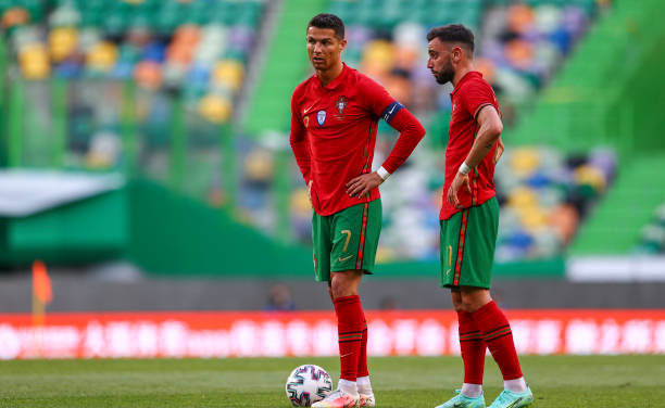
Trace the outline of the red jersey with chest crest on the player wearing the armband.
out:
[[[313,181],[316,214],[331,215],[379,197],[378,188],[365,196],[351,197],[346,184],[372,171],[378,120],[390,122],[401,109],[384,87],[346,64],[326,86],[313,75],[296,88],[291,137],[306,138],[310,166],[303,177]]]

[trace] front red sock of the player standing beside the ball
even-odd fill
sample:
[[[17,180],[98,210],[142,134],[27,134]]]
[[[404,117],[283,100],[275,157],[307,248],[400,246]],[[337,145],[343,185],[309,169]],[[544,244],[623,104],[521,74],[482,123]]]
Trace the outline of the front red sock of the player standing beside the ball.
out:
[[[339,334],[340,379],[355,381],[363,340],[363,309],[360,297],[344,296],[334,301]]]

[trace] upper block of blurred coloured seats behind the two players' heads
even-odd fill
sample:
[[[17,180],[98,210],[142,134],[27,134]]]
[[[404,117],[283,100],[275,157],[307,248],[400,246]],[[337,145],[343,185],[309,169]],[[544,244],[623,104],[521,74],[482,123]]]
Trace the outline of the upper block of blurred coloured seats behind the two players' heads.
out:
[[[504,119],[548,81],[593,23],[594,0],[335,0],[344,20],[347,62],[376,78],[418,115],[450,111],[450,89],[432,86],[424,39],[429,28],[461,23],[476,34],[475,64],[501,98]]]

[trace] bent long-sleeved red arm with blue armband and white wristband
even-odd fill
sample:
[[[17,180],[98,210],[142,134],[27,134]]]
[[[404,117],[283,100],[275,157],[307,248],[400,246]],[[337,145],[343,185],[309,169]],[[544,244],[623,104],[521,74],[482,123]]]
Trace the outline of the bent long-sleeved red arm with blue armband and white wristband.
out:
[[[400,137],[378,170],[360,175],[347,183],[347,193],[351,196],[363,196],[380,186],[409,158],[425,136],[425,128],[418,119],[397,101],[385,110],[382,118],[400,132]]]

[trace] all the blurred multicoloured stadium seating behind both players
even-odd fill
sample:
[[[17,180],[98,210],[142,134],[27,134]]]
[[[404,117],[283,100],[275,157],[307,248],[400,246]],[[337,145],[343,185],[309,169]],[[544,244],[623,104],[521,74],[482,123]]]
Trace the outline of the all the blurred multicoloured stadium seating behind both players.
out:
[[[276,69],[262,58],[267,48],[300,50],[299,80],[312,73],[304,59],[306,18],[300,21],[302,42],[279,43],[279,31],[272,31],[275,16],[294,3],[0,0],[0,54],[11,84],[7,165],[148,176],[227,208],[269,237],[310,244],[311,207],[288,129],[256,133],[241,119],[261,76]],[[510,128],[530,113],[578,42],[615,7],[608,0],[315,3],[346,22],[344,61],[382,84],[428,130],[381,187],[379,262],[438,258],[452,87],[438,86],[426,68],[429,28],[463,23],[474,30],[476,67],[492,84]],[[281,100],[284,112],[289,97]],[[280,120],[288,126],[287,114]],[[396,138],[380,123],[374,168]],[[497,259],[560,257],[612,190],[623,157],[612,143],[576,151],[536,135],[531,143],[516,145],[510,137],[504,142],[495,180],[502,207]],[[631,251],[665,250],[662,209]]]

